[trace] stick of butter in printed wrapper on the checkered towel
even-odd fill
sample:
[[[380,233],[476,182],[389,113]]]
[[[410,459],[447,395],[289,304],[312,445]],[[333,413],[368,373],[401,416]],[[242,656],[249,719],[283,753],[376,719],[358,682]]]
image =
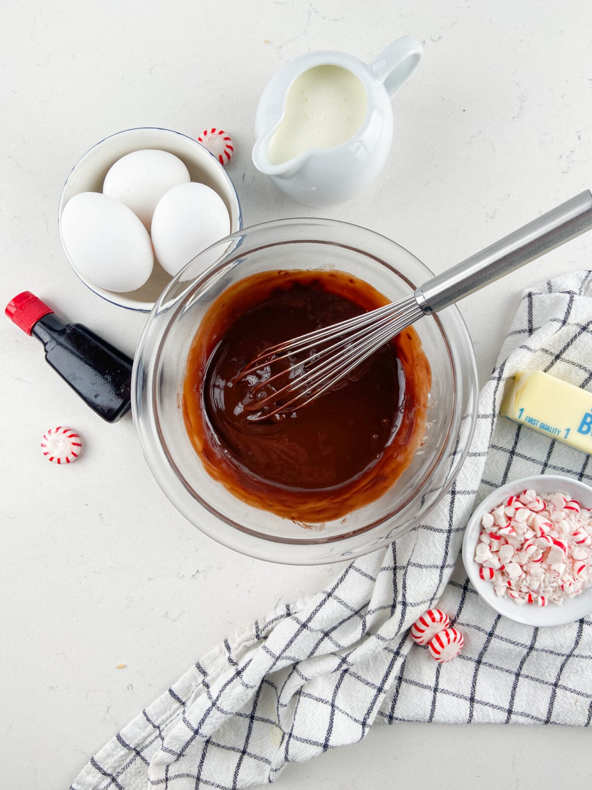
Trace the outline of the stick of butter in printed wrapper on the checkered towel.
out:
[[[500,414],[592,454],[592,393],[542,371],[522,371],[508,381]]]

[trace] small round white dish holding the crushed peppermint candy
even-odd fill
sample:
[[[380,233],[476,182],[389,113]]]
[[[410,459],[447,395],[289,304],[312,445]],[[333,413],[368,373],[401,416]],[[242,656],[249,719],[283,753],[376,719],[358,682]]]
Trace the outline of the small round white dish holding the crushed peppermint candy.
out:
[[[563,606],[549,604],[549,606],[539,607],[535,604],[524,604],[517,606],[511,598],[504,596],[498,598],[493,589],[491,581],[484,581],[479,576],[478,562],[475,562],[475,548],[481,532],[481,517],[483,513],[488,513],[494,507],[500,505],[504,499],[514,494],[522,494],[528,488],[532,488],[538,494],[553,494],[560,491],[569,494],[577,499],[586,509],[592,509],[592,488],[579,480],[560,475],[534,475],[531,477],[521,477],[519,480],[511,480],[500,488],[496,488],[489,496],[479,504],[469,523],[466,525],[463,540],[463,562],[466,573],[469,574],[470,581],[473,582],[483,600],[500,615],[515,620],[516,623],[523,623],[526,626],[563,626],[565,623],[573,623],[581,617],[585,617],[592,611],[592,585],[581,592],[575,598],[564,601]]]

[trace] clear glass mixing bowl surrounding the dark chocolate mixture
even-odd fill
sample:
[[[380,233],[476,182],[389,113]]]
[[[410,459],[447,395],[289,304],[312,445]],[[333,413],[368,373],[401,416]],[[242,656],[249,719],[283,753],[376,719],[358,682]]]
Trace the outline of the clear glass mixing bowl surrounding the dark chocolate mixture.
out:
[[[478,400],[469,333],[456,307],[415,325],[433,376],[422,446],[395,485],[375,502],[339,521],[305,529],[246,505],[212,480],[189,442],[182,416],[185,361],[205,311],[225,288],[272,269],[339,269],[392,301],[433,276],[390,239],[332,220],[277,220],[222,239],[170,282],[141,335],[133,366],[132,411],[144,457],[174,506],[203,532],[237,551],[302,565],[366,554],[417,525],[463,464]]]

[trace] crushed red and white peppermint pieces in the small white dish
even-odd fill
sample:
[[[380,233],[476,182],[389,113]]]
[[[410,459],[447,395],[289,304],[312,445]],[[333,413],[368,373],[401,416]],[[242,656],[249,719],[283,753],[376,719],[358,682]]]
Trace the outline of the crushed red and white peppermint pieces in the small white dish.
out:
[[[475,562],[500,598],[561,606],[592,584],[592,513],[567,494],[512,495],[483,514]]]

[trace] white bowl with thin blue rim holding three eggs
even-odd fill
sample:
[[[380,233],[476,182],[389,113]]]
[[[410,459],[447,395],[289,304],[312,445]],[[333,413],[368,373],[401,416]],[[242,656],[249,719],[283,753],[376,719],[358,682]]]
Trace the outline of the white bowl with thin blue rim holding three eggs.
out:
[[[58,209],[59,235],[69,265],[92,292],[107,299],[107,302],[127,307],[129,310],[141,310],[148,313],[154,307],[155,300],[158,299],[160,293],[172,280],[170,274],[165,272],[157,261],[155,261],[148,282],[144,283],[141,288],[127,293],[107,291],[87,280],[78,271],[68,254],[62,236],[62,212],[69,199],[81,192],[102,192],[103,181],[111,165],[122,156],[142,149],[159,149],[178,156],[189,170],[192,181],[204,183],[215,190],[223,199],[230,214],[231,233],[241,230],[242,213],[234,184],[230,181],[223,166],[203,145],[180,132],[149,126],[141,129],[126,129],[117,134],[111,134],[111,137],[106,137],[93,145],[92,149],[78,160],[66,179]]]

